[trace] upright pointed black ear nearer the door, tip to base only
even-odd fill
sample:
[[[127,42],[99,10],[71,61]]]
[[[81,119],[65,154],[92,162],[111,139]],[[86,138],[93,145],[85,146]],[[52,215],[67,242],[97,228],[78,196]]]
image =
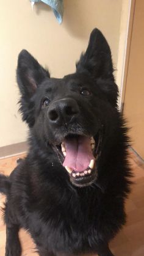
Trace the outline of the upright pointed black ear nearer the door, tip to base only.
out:
[[[93,78],[112,79],[113,66],[109,45],[98,29],[90,34],[87,51],[76,64],[77,72],[88,71]]]

